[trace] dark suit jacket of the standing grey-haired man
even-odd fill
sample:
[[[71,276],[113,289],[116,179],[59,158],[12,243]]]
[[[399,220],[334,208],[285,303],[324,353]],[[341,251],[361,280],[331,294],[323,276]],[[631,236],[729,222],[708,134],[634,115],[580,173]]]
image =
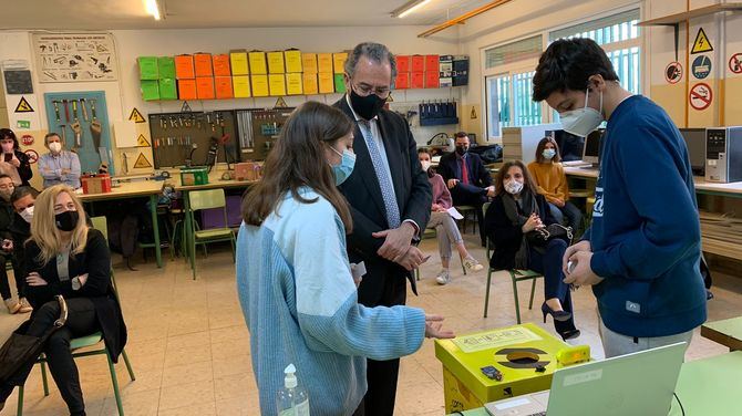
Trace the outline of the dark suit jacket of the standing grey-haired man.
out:
[[[334,107],[355,121],[346,96],[334,103]],[[415,221],[422,231],[430,219],[432,193],[427,174],[418,160],[418,145],[408,123],[399,114],[382,110],[378,125],[384,141],[400,218],[402,221]],[[374,238],[371,233],[390,228],[387,209],[369,148],[358,125],[353,136],[355,167],[339,189],[348,199],[353,218],[353,231],[348,236],[348,257],[351,262],[365,263],[367,274],[358,289],[358,300],[361,304],[373,306],[384,302],[382,298],[389,298],[389,293],[384,293],[388,279],[406,277],[413,292],[418,292],[411,272],[377,254],[384,239]]]

